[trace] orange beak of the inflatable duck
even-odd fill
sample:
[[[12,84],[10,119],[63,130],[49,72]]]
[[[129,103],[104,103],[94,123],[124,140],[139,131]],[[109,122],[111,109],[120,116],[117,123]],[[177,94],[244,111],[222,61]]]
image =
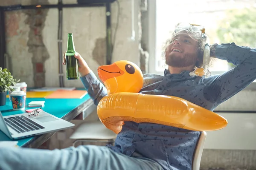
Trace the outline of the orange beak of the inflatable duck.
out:
[[[102,65],[98,68],[98,75],[102,82],[105,82],[107,79],[118,77],[123,75],[125,72],[122,71],[116,63],[111,65]]]

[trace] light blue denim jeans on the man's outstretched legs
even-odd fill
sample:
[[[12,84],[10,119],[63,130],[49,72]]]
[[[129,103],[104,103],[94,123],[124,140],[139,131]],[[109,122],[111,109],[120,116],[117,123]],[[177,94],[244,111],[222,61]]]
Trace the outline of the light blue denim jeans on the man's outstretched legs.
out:
[[[155,161],[129,157],[105,146],[42,150],[0,147],[0,170],[163,170]]]

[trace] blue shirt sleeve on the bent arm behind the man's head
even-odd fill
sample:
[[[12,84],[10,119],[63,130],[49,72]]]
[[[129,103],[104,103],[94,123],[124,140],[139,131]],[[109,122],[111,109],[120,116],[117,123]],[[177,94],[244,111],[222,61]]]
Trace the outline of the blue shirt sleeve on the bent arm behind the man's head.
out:
[[[236,65],[235,68],[207,78],[207,92],[216,104],[237,94],[256,79],[256,48],[235,43],[216,45],[215,56]],[[209,95],[209,94],[208,94]]]

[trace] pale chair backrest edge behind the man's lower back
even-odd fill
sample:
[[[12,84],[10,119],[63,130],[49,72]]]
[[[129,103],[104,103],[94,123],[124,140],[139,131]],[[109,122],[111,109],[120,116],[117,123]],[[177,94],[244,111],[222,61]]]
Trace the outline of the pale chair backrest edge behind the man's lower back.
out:
[[[195,155],[192,163],[192,170],[199,170],[200,169],[200,163],[201,158],[204,150],[204,142],[206,139],[206,132],[203,131],[198,139],[198,143],[196,145],[195,149]]]

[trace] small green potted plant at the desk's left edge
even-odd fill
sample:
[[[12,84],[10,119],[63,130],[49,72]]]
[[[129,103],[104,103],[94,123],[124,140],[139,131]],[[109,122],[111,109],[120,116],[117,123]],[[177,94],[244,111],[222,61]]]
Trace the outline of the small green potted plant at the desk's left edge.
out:
[[[7,69],[0,67],[0,106],[6,104],[7,91],[13,91],[13,86],[20,80],[13,78],[11,72]]]

